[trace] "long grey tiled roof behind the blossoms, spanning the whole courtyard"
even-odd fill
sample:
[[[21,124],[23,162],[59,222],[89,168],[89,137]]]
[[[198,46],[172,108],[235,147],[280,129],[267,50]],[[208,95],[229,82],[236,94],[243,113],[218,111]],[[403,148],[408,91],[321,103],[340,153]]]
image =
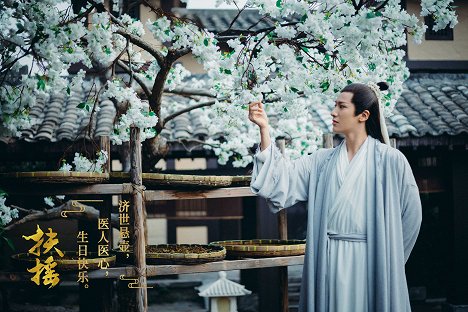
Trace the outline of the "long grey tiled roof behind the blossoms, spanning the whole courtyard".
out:
[[[25,141],[75,140],[108,135],[112,131],[116,110],[109,100],[99,103],[87,134],[89,115],[76,106],[87,95],[86,87],[64,94],[41,98],[31,110],[39,123],[23,132]],[[312,109],[314,124],[323,132],[331,131],[332,107],[320,104]],[[387,118],[391,137],[457,135],[468,133],[468,74],[415,74],[406,83],[394,115]],[[208,137],[208,129],[200,121],[200,112],[191,111],[170,121],[162,135],[169,140]],[[5,138],[3,138],[4,141]]]

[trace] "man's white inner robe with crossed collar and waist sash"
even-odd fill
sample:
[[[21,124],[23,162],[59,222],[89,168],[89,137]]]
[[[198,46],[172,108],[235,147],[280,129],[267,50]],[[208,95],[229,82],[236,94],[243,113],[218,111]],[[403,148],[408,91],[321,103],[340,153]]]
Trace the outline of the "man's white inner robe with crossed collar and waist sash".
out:
[[[349,161],[342,144],[329,185],[328,310],[366,312],[366,158],[367,140]]]

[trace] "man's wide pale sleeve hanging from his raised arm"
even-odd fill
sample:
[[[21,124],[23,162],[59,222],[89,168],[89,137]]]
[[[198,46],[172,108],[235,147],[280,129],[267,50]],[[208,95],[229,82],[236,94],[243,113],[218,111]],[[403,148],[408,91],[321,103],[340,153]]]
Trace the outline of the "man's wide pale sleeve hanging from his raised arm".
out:
[[[306,201],[315,154],[288,160],[273,144],[262,152],[257,151],[250,184],[252,192],[266,198],[274,212]]]

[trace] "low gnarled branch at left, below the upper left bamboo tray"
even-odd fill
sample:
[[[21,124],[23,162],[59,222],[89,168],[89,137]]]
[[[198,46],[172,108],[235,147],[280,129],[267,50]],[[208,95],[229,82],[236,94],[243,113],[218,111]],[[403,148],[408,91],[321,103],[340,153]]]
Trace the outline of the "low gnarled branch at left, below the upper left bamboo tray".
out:
[[[72,200],[66,202],[65,204],[52,208],[52,209],[46,209],[43,211],[38,211],[38,210],[28,210],[24,209],[21,207],[17,206],[11,206],[12,208],[16,208],[20,210],[21,212],[26,212],[28,213],[25,217],[19,219],[18,221],[11,223],[7,227],[5,227],[5,231],[11,230],[15,227],[17,227],[20,224],[24,224],[26,222],[30,221],[35,221],[35,220],[53,220],[53,219],[64,219],[62,217],[62,212],[63,211],[70,211],[70,210],[76,210],[76,207],[72,206]],[[99,210],[97,210],[94,207],[91,206],[86,206],[80,203],[84,207],[84,212],[73,212],[73,213],[68,213],[67,216],[70,219],[78,219],[78,220],[88,220],[88,221],[94,221],[99,219]],[[119,227],[119,217],[116,213],[111,214],[111,224],[113,227],[118,228]]]

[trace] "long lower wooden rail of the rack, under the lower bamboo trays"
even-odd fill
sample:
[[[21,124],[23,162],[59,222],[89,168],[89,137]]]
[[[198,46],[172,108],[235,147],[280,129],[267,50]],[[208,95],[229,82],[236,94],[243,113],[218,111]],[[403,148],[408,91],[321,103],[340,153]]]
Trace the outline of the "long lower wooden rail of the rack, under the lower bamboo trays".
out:
[[[304,256],[257,258],[242,260],[224,260],[196,265],[148,265],[147,276],[163,276],[172,274],[206,273],[218,271],[244,270],[256,268],[269,268],[278,266],[299,265],[304,263]],[[121,275],[132,277],[136,275],[133,266],[109,268],[107,270],[88,271],[90,279],[119,279]],[[64,279],[76,279],[77,272],[61,273]],[[30,281],[32,274],[28,272],[1,272],[0,282],[25,282]]]

